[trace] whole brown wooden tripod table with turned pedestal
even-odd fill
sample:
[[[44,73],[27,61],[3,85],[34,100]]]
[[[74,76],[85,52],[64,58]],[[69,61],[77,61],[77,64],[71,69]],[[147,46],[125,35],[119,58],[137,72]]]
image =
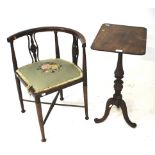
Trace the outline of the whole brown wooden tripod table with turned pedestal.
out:
[[[91,46],[93,50],[113,52],[118,54],[116,70],[114,72],[116,80],[114,81],[115,93],[106,103],[105,113],[102,118],[95,118],[96,123],[103,122],[109,115],[113,105],[121,108],[127,124],[133,128],[137,125],[130,121],[127,112],[127,106],[122,99],[121,91],[123,89],[122,78],[123,54],[144,55],[146,50],[147,29],[144,27],[103,24]]]

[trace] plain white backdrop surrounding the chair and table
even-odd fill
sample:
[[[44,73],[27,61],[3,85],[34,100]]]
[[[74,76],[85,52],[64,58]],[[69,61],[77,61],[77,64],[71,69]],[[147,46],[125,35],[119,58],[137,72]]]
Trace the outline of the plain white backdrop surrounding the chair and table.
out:
[[[154,155],[155,9],[133,7],[142,4],[141,1],[5,0],[0,4],[0,154]],[[117,55],[90,49],[103,23],[143,26],[148,30],[146,55],[124,55],[122,94],[131,120],[138,125],[136,129],[125,123],[121,111],[115,107],[105,122],[95,124],[93,121],[103,115],[106,100],[114,92]],[[46,143],[40,142],[34,104],[26,103],[26,113],[20,113],[11,52],[6,41],[15,32],[40,26],[73,28],[83,33],[87,40],[90,119],[84,120],[81,109],[55,107],[45,125]],[[83,104],[81,85],[66,89],[64,96],[66,103]],[[47,110],[46,106],[44,108]]]

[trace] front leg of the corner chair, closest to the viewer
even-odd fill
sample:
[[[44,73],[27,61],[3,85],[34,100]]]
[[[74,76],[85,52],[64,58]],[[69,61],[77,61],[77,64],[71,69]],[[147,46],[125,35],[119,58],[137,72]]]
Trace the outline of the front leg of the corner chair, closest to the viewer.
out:
[[[40,97],[35,97],[35,104],[36,104],[36,110],[38,115],[38,122],[40,126],[41,136],[42,136],[42,142],[46,142],[45,133],[44,133],[44,122],[43,122],[43,115],[42,115],[42,107],[40,103]]]

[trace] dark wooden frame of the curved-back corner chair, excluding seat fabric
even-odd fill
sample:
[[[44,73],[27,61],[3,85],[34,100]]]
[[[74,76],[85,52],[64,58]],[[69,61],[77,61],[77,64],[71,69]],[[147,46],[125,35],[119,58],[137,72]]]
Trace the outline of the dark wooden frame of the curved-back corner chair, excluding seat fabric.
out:
[[[41,93],[35,93],[33,88],[30,89],[30,93],[34,97],[34,101],[23,99],[22,95],[22,89],[21,89],[21,82],[26,86],[26,83],[20,79],[16,75],[16,70],[18,69],[17,65],[17,58],[15,54],[15,48],[14,48],[14,41],[20,37],[27,36],[28,37],[28,49],[30,56],[32,58],[32,63],[39,61],[39,46],[35,37],[36,33],[39,32],[52,32],[54,33],[55,37],[55,54],[56,58],[60,58],[60,51],[59,51],[59,41],[58,41],[58,33],[63,32],[67,33],[73,36],[73,43],[72,43],[72,61],[75,65],[78,66],[78,56],[79,56],[79,45],[78,45],[78,40],[80,40],[81,45],[82,45],[82,71],[83,71],[83,76],[82,78],[75,80],[73,82],[68,82],[64,84],[63,86],[58,86],[54,89],[49,89]],[[86,40],[85,37],[78,31],[70,29],[70,28],[65,28],[65,27],[38,27],[38,28],[33,28],[33,29],[28,29],[24,30],[21,32],[18,32],[16,34],[11,35],[10,37],[7,38],[7,41],[10,43],[11,46],[11,54],[12,54],[12,62],[13,62],[13,69],[15,73],[15,80],[17,84],[17,91],[19,95],[19,101],[20,101],[20,106],[21,106],[21,112],[25,112],[24,108],[24,101],[28,102],[35,102],[36,105],[36,110],[37,110],[37,116],[38,116],[38,122],[40,126],[40,131],[41,131],[41,136],[42,136],[42,141],[45,142],[45,132],[44,132],[44,125],[47,121],[47,118],[49,117],[49,114],[51,110],[53,109],[54,105],[61,105],[61,106],[73,106],[73,107],[84,107],[85,109],[85,119],[88,120],[88,97],[87,97],[87,62],[86,62]],[[84,94],[84,106],[79,106],[79,105],[64,105],[64,104],[57,104],[57,98],[60,95],[60,100],[63,100],[63,89],[67,88],[69,86],[75,85],[77,83],[83,82],[83,94]],[[48,102],[41,102],[40,98],[51,94],[53,92],[57,92],[54,100],[52,103]],[[50,104],[49,110],[43,118],[42,114],[42,104]]]

